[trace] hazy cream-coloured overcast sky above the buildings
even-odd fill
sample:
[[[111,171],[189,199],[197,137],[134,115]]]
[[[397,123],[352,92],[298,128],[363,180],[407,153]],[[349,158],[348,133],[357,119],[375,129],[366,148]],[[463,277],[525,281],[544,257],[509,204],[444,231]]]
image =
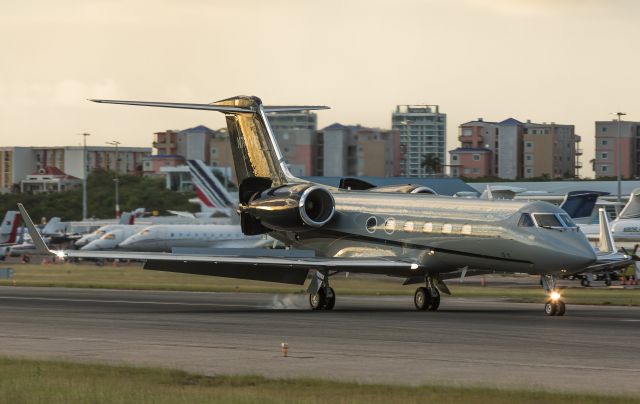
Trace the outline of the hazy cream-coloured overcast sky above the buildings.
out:
[[[320,127],[439,104],[448,149],[478,117],[575,124],[588,163],[595,120],[640,120],[639,17],[634,0],[3,0],[0,145],[150,146],[223,117],[86,99],[248,94],[329,105]]]

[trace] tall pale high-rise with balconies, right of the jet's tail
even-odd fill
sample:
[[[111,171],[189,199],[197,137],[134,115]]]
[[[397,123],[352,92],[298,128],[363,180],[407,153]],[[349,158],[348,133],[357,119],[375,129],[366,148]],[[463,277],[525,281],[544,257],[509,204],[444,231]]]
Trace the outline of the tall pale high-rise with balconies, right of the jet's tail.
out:
[[[447,149],[447,115],[438,105],[398,105],[391,116],[391,127],[400,132],[404,158],[400,175],[424,177],[433,171],[423,162],[427,155],[445,164]]]

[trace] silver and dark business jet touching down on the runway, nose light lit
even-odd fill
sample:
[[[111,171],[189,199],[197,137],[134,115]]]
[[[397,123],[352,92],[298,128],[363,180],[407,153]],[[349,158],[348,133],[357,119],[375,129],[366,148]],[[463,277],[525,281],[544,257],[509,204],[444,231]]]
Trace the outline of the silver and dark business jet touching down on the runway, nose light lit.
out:
[[[217,111],[226,115],[239,190],[238,213],[246,235],[269,234],[303,250],[299,256],[186,255],[144,252],[52,252],[61,257],[123,258],[144,268],[310,286],[313,309],[330,310],[340,272],[384,274],[422,283],[419,310],[437,310],[443,282],[489,272],[541,275],[548,315],[562,315],[559,274],[584,270],[597,257],[569,216],[546,202],[449,198],[413,193],[413,187],[350,190],[294,177],[284,161],[266,113],[325,109],[265,106],[239,96],[211,104],[93,100],[100,103]],[[242,251],[242,250],[240,250]]]

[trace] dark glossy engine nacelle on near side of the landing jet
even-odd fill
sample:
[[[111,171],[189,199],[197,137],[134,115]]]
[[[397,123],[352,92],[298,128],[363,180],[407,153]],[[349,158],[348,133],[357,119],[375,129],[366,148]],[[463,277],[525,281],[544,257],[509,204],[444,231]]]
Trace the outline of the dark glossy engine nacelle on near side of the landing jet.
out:
[[[241,209],[268,229],[301,232],[331,220],[335,201],[321,186],[294,184],[256,193]]]

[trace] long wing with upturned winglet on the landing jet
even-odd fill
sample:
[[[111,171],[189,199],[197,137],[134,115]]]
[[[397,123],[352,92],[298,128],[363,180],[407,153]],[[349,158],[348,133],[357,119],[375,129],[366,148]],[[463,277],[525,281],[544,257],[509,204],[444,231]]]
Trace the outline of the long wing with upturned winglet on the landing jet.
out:
[[[416,271],[418,264],[393,259],[243,257],[126,251],[52,251],[22,204],[18,204],[37,250],[59,258],[125,259],[144,261],[145,269],[198,275],[222,276],[302,285],[310,269],[366,273]]]

